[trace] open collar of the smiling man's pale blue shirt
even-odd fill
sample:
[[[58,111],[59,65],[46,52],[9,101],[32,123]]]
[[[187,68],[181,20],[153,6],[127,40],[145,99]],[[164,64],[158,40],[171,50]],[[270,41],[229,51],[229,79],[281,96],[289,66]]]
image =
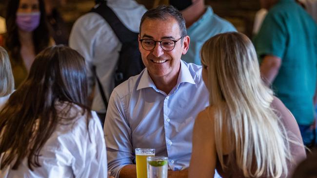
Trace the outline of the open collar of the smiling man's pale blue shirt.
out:
[[[151,79],[149,72],[147,69],[144,70],[144,72],[141,74],[141,79],[138,85],[137,90],[139,89],[145,89],[145,88],[153,88],[155,90],[158,90],[155,86],[153,80]],[[180,70],[178,74],[177,84],[176,86],[179,86],[181,83],[190,83],[190,84],[196,84],[193,76],[191,75],[187,65],[184,61],[180,60]]]

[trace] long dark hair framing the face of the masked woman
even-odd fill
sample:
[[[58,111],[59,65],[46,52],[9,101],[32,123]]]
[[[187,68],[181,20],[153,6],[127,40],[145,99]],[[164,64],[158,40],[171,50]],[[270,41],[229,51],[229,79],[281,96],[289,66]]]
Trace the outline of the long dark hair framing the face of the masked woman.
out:
[[[20,59],[21,44],[19,41],[18,26],[16,24],[17,11],[20,0],[8,0],[6,7],[6,28],[5,48],[10,54],[11,59]],[[50,42],[50,35],[46,22],[45,7],[43,0],[39,0],[40,7],[40,24],[38,28],[33,31],[33,44],[35,54],[40,53],[43,49],[48,47]]]

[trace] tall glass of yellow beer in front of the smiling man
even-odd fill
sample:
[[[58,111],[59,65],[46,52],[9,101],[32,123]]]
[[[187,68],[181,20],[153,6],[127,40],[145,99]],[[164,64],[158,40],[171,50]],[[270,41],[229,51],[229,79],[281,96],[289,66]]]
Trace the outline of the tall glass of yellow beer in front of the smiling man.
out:
[[[153,148],[136,148],[137,178],[147,178],[146,158],[155,156]]]

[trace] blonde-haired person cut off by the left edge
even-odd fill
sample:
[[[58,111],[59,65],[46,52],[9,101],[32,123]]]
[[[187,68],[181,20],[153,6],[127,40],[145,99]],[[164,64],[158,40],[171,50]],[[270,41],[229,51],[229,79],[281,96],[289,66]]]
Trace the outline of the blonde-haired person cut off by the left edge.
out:
[[[0,110],[14,89],[14,78],[8,53],[0,47]]]

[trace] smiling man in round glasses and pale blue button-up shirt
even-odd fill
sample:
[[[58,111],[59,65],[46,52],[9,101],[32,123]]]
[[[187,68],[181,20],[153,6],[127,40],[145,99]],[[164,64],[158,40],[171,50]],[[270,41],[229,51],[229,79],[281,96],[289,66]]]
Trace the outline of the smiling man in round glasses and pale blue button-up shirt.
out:
[[[112,176],[135,178],[135,148],[155,148],[156,156],[169,159],[169,178],[187,178],[194,120],[209,104],[201,66],[180,59],[189,42],[174,7],[158,6],[141,18],[139,50],[146,69],[114,89],[106,114]]]

